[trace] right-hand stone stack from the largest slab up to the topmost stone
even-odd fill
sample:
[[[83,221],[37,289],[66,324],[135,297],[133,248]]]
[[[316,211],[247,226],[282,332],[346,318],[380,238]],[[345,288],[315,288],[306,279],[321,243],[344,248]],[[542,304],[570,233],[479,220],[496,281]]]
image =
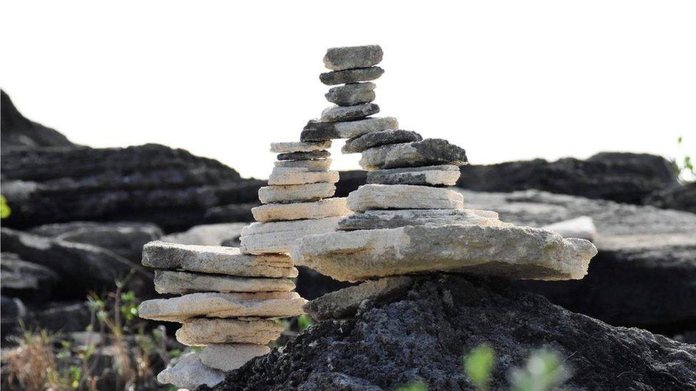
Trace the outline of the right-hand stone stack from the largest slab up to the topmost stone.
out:
[[[424,273],[466,271],[508,278],[582,278],[597,252],[583,239],[563,239],[544,229],[513,226],[490,211],[464,209],[461,193],[449,187],[459,179],[466,153],[446,140],[426,139],[399,130],[394,118],[372,118],[379,111],[374,80],[384,73],[379,46],[331,48],[320,77],[334,87],[336,103],[310,121],[301,140],[348,138],[342,151],[362,153],[368,170],[364,186],[350,193],[355,214],[337,231],[305,236],[292,258],[343,281]],[[364,82],[364,83],[363,83]]]

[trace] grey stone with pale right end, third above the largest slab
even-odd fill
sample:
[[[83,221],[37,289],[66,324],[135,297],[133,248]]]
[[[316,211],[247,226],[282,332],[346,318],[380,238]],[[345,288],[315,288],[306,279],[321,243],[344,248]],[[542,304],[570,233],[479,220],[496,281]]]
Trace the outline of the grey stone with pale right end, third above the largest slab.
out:
[[[367,172],[367,183],[454,186],[460,174],[459,167],[450,165],[391,168]]]

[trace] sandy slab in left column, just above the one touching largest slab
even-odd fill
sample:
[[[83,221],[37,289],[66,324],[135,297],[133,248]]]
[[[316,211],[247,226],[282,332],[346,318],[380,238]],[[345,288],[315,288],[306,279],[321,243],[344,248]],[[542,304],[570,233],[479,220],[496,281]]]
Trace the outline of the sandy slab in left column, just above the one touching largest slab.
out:
[[[256,221],[323,219],[352,214],[345,197],[320,199],[293,204],[265,204],[251,209]]]

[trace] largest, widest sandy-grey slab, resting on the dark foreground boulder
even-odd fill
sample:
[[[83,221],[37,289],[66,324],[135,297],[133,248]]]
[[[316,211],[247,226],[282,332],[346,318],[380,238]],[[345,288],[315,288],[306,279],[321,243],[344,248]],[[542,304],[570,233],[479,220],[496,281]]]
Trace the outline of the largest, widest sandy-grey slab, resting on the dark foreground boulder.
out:
[[[589,241],[545,229],[423,225],[305,236],[292,259],[342,281],[427,271],[554,281],[583,278],[595,254]]]

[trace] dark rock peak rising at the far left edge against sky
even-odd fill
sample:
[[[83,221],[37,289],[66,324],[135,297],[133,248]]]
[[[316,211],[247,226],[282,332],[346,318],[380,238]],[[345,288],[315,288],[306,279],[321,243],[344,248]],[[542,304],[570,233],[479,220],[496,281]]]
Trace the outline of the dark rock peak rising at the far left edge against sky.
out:
[[[50,127],[30,121],[19,113],[9,95],[0,90],[0,144],[11,147],[65,147],[74,145]],[[4,153],[4,151],[3,151]]]

